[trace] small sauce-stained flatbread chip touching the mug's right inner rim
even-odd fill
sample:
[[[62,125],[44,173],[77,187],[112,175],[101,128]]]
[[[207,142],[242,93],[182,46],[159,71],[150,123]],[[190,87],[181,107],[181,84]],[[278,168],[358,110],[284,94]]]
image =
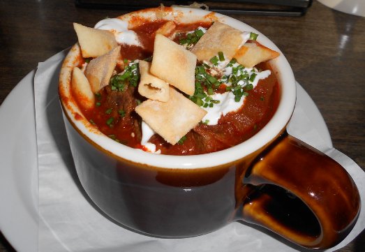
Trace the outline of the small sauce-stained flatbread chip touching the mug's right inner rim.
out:
[[[237,62],[246,68],[252,68],[257,64],[274,59],[280,55],[279,52],[271,50],[265,45],[261,45],[257,41],[255,43],[245,43],[234,54],[234,58]]]

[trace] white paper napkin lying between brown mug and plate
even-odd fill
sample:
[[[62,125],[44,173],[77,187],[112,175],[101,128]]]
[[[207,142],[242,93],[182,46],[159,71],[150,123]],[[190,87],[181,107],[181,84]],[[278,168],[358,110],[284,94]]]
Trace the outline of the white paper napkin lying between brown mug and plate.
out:
[[[297,251],[283,239],[271,237],[234,222],[208,235],[186,239],[159,239],[121,228],[84,197],[78,181],[61,115],[58,75],[66,52],[38,64],[34,78],[39,176],[38,251]],[[297,106],[288,131],[325,151],[341,163],[359,188],[362,212],[350,235],[334,251],[348,244],[365,227],[365,173],[348,156],[332,148],[323,121],[313,123],[307,112],[308,99],[298,84]],[[312,108],[313,109],[313,108]],[[322,118],[320,118],[321,120]],[[317,126],[318,124],[319,126]]]

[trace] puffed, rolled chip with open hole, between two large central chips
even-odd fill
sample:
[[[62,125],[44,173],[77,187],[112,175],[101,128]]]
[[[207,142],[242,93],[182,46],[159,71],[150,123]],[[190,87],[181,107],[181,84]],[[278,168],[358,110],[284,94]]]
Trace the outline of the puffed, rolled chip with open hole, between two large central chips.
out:
[[[151,63],[140,61],[140,84],[138,92],[151,100],[166,102],[169,99],[169,84],[149,73]]]

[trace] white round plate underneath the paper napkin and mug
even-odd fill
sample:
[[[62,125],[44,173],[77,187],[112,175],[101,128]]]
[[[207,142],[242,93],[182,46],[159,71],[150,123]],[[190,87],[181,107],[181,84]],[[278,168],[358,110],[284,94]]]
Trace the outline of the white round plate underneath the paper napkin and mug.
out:
[[[50,60],[50,59],[48,59]],[[36,122],[31,71],[11,91],[0,107],[0,230],[19,252],[38,251],[38,163]],[[57,99],[57,94],[54,94]],[[301,132],[300,120],[292,117],[288,131],[326,151],[332,141],[318,108],[297,84],[297,104],[305,110],[320,140],[310,141]],[[293,123],[295,121],[295,123]],[[308,137],[308,139],[306,139]],[[314,142],[313,142],[314,141]]]

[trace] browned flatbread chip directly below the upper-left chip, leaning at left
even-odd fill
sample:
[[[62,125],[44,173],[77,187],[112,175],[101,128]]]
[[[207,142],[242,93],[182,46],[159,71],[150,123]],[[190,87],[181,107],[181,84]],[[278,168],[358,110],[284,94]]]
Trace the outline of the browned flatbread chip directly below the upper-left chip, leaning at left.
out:
[[[91,59],[87,65],[85,76],[89,80],[91,90],[96,93],[110,82],[110,77],[120,57],[121,47],[115,47],[107,54]]]

